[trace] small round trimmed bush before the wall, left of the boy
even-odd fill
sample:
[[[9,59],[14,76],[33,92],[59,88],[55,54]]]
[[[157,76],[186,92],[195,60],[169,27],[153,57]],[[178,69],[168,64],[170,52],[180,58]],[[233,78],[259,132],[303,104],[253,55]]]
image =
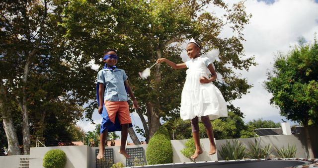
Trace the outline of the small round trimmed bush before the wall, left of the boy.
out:
[[[65,165],[66,154],[60,149],[52,149],[44,155],[44,168],[64,168]]]

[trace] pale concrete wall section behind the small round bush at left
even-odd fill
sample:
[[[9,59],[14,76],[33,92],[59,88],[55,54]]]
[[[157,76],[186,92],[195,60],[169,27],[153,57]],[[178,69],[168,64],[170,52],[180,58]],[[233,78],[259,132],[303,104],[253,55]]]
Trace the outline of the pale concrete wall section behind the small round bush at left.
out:
[[[90,149],[88,146],[38,147],[30,149],[30,168],[43,168],[43,158],[46,152],[60,149],[67,157],[66,168],[88,168]]]

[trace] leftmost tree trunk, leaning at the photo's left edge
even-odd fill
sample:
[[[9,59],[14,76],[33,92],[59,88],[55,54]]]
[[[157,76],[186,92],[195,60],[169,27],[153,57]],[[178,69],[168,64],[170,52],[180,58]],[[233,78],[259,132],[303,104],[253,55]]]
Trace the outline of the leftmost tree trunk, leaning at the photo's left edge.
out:
[[[0,112],[3,118],[3,129],[8,143],[8,155],[21,155],[19,141],[14,128],[10,105],[5,104],[10,102],[4,91],[4,86],[0,83]]]

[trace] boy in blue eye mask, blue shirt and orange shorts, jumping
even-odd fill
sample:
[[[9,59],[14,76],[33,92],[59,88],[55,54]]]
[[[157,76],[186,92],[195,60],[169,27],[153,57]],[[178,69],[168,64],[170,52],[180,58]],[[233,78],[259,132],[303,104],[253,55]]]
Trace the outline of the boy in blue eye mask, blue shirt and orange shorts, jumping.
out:
[[[125,149],[128,136],[128,127],[129,124],[131,124],[129,105],[127,102],[127,92],[129,93],[130,98],[133,100],[133,108],[138,108],[138,102],[133,91],[131,90],[131,87],[128,84],[128,77],[125,71],[116,68],[115,65],[117,64],[117,60],[118,56],[116,50],[108,49],[104,52],[103,61],[106,64],[104,69],[100,70],[97,75],[97,84],[99,86],[97,98],[100,102],[98,113],[103,113],[102,126],[105,125],[105,122],[111,122],[114,125],[116,115],[118,116],[119,123],[121,124],[121,144],[119,153],[124,155],[126,158],[130,158]],[[105,118],[109,121],[104,121]],[[100,131],[100,144],[97,159],[104,158],[104,143],[108,133],[107,126],[106,128],[102,128],[102,126]]]

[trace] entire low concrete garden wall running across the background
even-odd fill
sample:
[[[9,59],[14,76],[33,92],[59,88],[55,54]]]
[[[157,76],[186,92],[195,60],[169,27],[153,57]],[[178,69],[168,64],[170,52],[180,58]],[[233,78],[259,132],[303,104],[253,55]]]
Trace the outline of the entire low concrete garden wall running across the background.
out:
[[[316,130],[315,130],[316,131]],[[311,138],[313,142],[314,153],[317,153],[318,142],[317,133],[311,133]],[[312,137],[313,136],[313,137]],[[231,139],[229,139],[232,142]],[[274,147],[280,149],[283,146],[286,148],[288,144],[296,145],[297,153],[296,158],[307,158],[306,155],[306,139],[303,134],[297,135],[277,135],[277,136],[263,136],[257,137],[256,140],[260,140],[260,145],[264,147],[267,144],[272,145],[272,151]],[[180,150],[185,148],[186,140],[171,140],[173,148],[173,163],[183,163],[191,162],[190,159],[185,158]],[[254,138],[241,138],[239,142],[246,146],[246,151],[249,150],[249,143],[254,143]],[[203,154],[199,155],[196,162],[200,161],[217,161],[222,160],[219,154],[208,155],[210,150],[210,142],[208,139],[200,139],[201,147],[203,149]],[[226,140],[216,140],[217,149],[221,149],[221,145],[224,145]],[[147,145],[129,145],[126,148],[144,148],[146,154]],[[123,155],[119,154],[119,147],[106,147],[112,148],[114,150],[114,163],[121,162],[126,165],[126,159]],[[95,168],[95,150],[98,147],[90,148],[88,146],[62,146],[62,147],[38,147],[30,149],[30,168],[43,168],[43,157],[45,153],[51,149],[61,149],[66,153],[67,164],[66,168]],[[277,155],[273,152],[272,155]],[[28,157],[28,155],[19,156],[1,156],[0,157],[0,168],[17,168],[19,166],[20,158]],[[272,156],[273,157],[273,156]]]

